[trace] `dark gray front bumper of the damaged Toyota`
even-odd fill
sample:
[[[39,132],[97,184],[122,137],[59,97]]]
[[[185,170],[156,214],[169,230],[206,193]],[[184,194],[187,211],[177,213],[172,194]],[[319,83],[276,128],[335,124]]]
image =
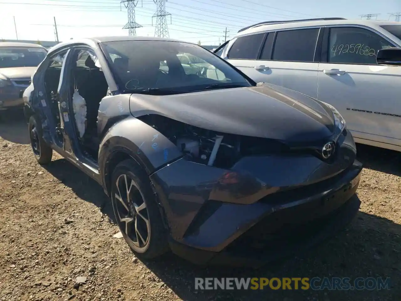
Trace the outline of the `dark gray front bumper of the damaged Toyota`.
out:
[[[347,204],[358,187],[362,165],[355,160],[349,133],[342,136],[336,156],[334,163],[312,155],[244,157],[230,170],[182,158],[158,170],[150,179],[166,216],[173,252],[200,263],[210,262],[219,252],[256,257],[248,251],[241,255],[235,246],[239,241],[250,246],[263,235],[269,238],[269,250],[284,253],[277,237],[328,220],[337,210],[355,215],[359,204]],[[252,235],[259,228],[261,233]]]

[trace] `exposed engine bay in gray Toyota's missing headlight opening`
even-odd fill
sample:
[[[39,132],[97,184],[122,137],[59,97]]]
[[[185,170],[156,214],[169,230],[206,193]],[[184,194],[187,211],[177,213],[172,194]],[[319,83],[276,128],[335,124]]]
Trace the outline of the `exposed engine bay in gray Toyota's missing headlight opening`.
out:
[[[138,119],[166,136],[186,159],[209,166],[230,168],[241,157],[288,150],[275,140],[205,130],[161,115],[148,114]]]

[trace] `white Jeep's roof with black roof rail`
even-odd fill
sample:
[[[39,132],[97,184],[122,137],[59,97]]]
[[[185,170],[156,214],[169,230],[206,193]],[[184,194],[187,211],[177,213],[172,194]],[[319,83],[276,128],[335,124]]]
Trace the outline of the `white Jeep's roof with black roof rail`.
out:
[[[269,22],[269,21],[267,21]],[[277,23],[279,21],[271,21],[274,23],[271,24],[255,24],[249,28],[243,28],[238,32],[239,35],[248,35],[251,33],[258,33],[263,31],[273,31],[278,29],[290,29],[290,28],[299,28],[299,27],[312,27],[312,26],[329,26],[329,25],[360,25],[367,27],[376,27],[382,25],[400,25],[400,22],[394,21],[384,21],[384,20],[350,20],[343,18],[332,18],[332,19],[317,19],[317,20],[283,20],[282,23]]]

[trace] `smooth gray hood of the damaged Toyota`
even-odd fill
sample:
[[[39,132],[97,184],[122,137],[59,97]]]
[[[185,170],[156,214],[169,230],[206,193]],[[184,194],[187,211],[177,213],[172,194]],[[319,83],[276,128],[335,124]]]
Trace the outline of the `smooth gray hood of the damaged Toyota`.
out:
[[[276,85],[216,89],[187,94],[131,94],[134,117],[159,114],[227,134],[286,142],[326,139],[334,132],[333,114],[324,104]]]

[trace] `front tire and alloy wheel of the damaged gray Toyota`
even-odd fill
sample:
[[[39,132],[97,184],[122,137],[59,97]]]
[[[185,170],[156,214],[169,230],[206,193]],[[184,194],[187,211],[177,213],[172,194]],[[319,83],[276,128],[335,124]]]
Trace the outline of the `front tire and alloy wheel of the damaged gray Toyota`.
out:
[[[113,170],[111,201],[120,231],[130,248],[144,259],[168,250],[167,232],[148,175],[132,159]]]

